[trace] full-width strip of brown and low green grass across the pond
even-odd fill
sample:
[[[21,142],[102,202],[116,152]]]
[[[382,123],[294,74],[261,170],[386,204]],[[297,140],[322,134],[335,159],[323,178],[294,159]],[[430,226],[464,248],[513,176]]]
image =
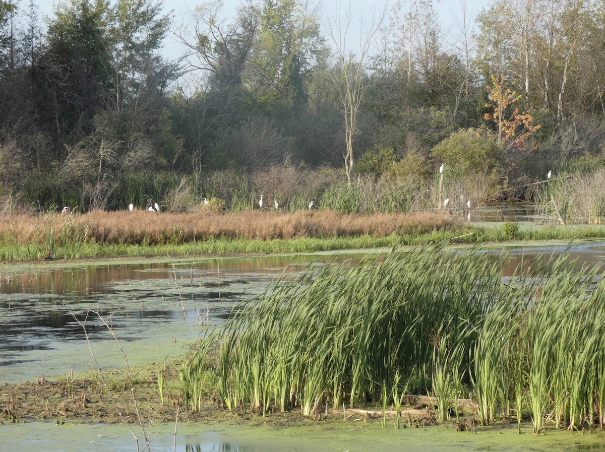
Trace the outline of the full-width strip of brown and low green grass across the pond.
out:
[[[93,211],[0,216],[0,259],[306,253],[343,248],[605,237],[601,225],[483,228],[446,213],[345,215],[332,210],[219,214]]]

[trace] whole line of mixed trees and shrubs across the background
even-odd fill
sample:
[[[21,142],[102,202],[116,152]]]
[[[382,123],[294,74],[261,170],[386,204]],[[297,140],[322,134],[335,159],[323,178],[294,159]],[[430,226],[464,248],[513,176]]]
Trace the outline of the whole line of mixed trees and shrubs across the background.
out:
[[[0,1],[0,211],[183,210],[185,189],[260,195],[282,165],[409,184],[445,163],[476,199],[525,199],[551,169],[601,166],[601,2],[462,5],[446,30],[431,0],[399,1],[367,18],[361,49],[341,40],[360,41],[343,8],[207,2],[177,18],[152,0],[68,0],[43,19],[34,0]],[[168,34],[182,57],[162,52]]]

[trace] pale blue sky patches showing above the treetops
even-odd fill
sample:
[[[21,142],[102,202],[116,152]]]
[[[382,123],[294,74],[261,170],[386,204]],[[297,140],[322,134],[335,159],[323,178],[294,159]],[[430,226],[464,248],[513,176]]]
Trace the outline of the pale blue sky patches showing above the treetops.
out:
[[[327,18],[333,13],[335,2],[329,0],[318,0],[323,15]],[[364,18],[367,21],[371,18],[371,8],[377,8],[380,10],[387,5],[387,9],[390,8],[388,5],[393,5],[396,0],[388,1],[368,1],[368,0],[350,0],[350,4],[353,7],[355,18]],[[42,15],[51,15],[53,12],[53,5],[56,3],[55,0],[34,0]],[[174,10],[175,23],[180,23],[183,18],[188,16],[188,11],[194,10],[195,6],[201,4],[202,1],[195,0],[164,0],[165,11]],[[227,16],[235,15],[235,8],[240,4],[240,0],[223,0],[224,2],[224,13]],[[466,2],[467,13],[469,16],[474,17],[479,13],[482,8],[488,7],[491,4],[491,0],[433,0],[434,8],[437,10],[440,16],[442,24],[442,30],[450,33],[455,33],[456,26],[455,21],[460,17],[460,11],[462,10],[461,4]],[[24,2],[21,2],[24,5]],[[349,0],[341,0],[340,4],[346,6],[349,4]],[[352,24],[351,35],[355,35],[356,27],[358,27],[358,21],[354,21]],[[352,44],[354,46],[355,44]],[[348,44],[347,44],[348,47]],[[168,33],[164,42],[163,54],[168,57],[178,57],[185,53],[185,48],[182,44],[178,44],[175,37]]]

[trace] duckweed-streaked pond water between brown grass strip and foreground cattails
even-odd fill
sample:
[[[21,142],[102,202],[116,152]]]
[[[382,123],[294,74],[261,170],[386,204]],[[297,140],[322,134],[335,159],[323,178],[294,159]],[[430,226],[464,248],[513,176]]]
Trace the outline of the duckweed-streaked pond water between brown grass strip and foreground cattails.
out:
[[[567,242],[506,248],[505,276],[531,257],[561,253]],[[373,251],[341,251],[358,260]],[[499,256],[502,249],[486,249]],[[570,257],[600,263],[605,242],[572,245]],[[35,381],[94,367],[123,367],[103,321],[129,364],[162,363],[185,354],[196,338],[229,316],[236,302],[265,291],[281,273],[322,265],[335,253],[16,265],[0,267],[0,383]],[[94,314],[94,312],[97,314]],[[87,317],[88,315],[88,317]]]

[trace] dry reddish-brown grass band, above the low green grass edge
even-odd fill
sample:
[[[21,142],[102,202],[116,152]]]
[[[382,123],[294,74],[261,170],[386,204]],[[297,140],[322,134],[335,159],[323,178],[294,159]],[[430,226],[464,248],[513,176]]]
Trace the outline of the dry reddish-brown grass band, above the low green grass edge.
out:
[[[430,233],[453,227],[458,220],[445,213],[342,214],[332,210],[274,213],[153,213],[149,211],[92,211],[83,215],[0,216],[0,235],[24,244],[42,241],[50,227],[60,239],[66,221],[83,239],[97,243],[149,244],[189,242],[226,237],[229,239],[291,239],[294,237],[339,237],[371,234]]]

